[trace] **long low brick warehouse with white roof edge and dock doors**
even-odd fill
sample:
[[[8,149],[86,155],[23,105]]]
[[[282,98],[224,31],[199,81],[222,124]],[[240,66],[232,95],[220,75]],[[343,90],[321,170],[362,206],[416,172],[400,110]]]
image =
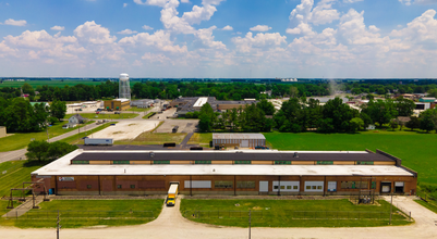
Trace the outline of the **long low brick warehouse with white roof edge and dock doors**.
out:
[[[383,151],[84,151],[32,173],[56,194],[414,194],[417,173]],[[35,189],[41,192],[44,187]]]

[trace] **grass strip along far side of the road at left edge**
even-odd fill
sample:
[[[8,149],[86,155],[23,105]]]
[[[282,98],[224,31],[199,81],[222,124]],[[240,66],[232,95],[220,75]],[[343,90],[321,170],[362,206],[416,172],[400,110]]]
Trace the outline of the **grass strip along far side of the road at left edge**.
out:
[[[86,124],[92,124],[92,123],[93,122],[88,122]],[[48,133],[49,133],[50,138],[60,136],[62,134],[65,134],[65,133],[72,131],[72,130],[77,130],[77,127],[63,129],[62,125],[64,125],[64,123],[60,122],[57,125],[49,127]],[[84,127],[84,126],[81,126],[81,127]],[[15,133],[12,136],[0,138],[0,152],[24,149],[31,142],[31,139],[47,140],[47,134],[45,130],[38,131],[38,133]]]

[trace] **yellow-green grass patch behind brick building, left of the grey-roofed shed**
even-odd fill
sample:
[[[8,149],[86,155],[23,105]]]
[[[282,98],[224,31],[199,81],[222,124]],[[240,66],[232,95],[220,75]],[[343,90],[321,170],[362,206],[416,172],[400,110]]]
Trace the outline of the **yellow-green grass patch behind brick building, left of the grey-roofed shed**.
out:
[[[116,141],[114,144],[163,144],[165,142],[175,142],[177,144],[181,143],[185,138],[185,133],[175,133],[175,134],[167,134],[167,133],[143,133],[134,140],[130,141]]]

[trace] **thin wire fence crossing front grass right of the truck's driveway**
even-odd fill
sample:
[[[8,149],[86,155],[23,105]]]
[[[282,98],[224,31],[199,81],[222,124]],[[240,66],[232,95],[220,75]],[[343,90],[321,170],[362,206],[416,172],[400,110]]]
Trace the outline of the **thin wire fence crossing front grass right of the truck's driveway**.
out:
[[[232,219],[248,218],[248,211],[184,211],[184,217],[196,219]],[[282,217],[287,219],[384,219],[390,217],[390,212],[368,212],[368,211],[290,211],[284,210],[283,214],[278,215],[268,211],[251,211],[251,217],[267,218]],[[409,218],[397,212],[392,213],[393,221],[408,221]]]

